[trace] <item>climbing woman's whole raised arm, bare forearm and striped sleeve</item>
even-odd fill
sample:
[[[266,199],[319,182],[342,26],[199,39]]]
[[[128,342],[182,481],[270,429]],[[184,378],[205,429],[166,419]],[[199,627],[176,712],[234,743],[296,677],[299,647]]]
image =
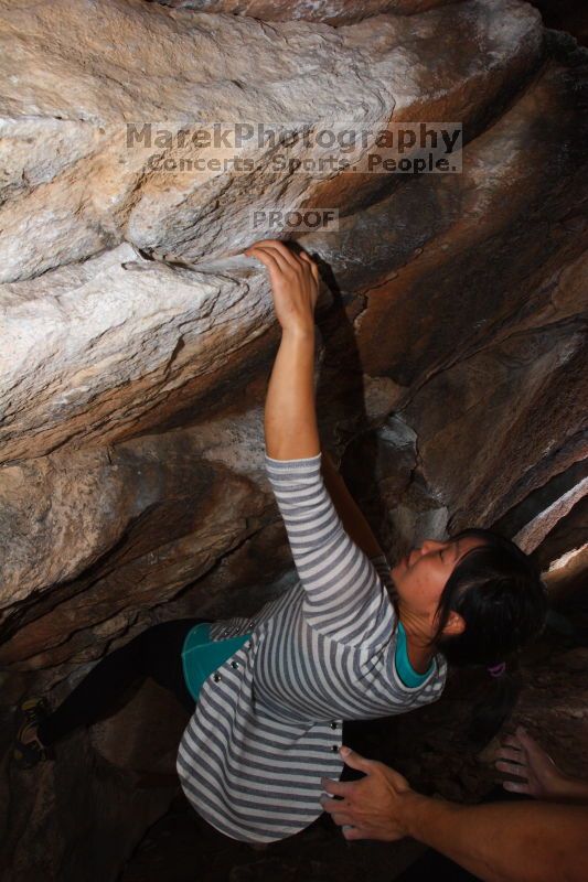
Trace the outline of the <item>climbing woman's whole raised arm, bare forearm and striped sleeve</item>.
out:
[[[257,243],[282,337],[266,399],[267,473],[307,594],[307,622],[349,643],[382,642],[389,601],[374,566],[343,528],[321,474],[314,406],[318,269],[277,241]]]

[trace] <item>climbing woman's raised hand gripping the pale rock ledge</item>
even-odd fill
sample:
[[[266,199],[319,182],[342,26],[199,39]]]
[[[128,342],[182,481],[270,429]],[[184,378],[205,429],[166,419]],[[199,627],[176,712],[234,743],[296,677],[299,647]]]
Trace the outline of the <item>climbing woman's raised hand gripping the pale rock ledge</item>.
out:
[[[314,330],[319,297],[319,268],[303,252],[296,255],[278,239],[260,239],[244,251],[266,267],[271,282],[276,318],[285,333]]]

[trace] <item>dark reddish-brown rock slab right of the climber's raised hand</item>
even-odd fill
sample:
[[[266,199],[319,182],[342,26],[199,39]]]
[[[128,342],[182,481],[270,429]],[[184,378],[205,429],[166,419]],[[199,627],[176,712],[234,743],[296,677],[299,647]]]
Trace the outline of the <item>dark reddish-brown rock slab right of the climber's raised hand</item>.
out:
[[[417,434],[419,481],[453,527],[492,524],[586,455],[586,173],[575,83],[574,71],[548,66],[466,147],[462,175],[421,176],[345,218],[338,234],[303,240],[341,290],[365,290],[356,362],[396,384],[395,408]],[[386,507],[397,538],[415,536],[398,496]]]

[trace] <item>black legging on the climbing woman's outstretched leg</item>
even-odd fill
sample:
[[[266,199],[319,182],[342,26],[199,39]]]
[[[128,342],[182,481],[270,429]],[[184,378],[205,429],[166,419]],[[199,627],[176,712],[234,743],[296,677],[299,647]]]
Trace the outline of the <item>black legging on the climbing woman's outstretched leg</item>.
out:
[[[60,707],[39,724],[43,744],[50,746],[78,727],[103,719],[139,678],[152,677],[192,713],[195,704],[184,680],[182,645],[190,628],[205,621],[179,619],[153,625],[101,658]]]

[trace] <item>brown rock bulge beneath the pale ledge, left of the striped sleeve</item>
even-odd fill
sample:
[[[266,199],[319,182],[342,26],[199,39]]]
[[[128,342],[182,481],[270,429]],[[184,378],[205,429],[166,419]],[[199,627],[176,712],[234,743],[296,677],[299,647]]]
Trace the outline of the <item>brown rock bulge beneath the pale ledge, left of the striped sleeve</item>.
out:
[[[126,613],[115,634],[126,630],[137,609],[173,598],[255,530],[265,494],[223,466],[231,441],[237,447],[227,434],[225,451],[211,444],[209,459],[202,455],[205,432],[177,431],[113,451],[54,454],[0,473],[12,491],[4,519],[4,627],[11,630],[14,615],[19,622],[18,633],[0,645],[2,664],[57,664],[87,643],[95,658],[99,644],[92,647],[84,627]],[[216,443],[223,444],[220,431]],[[257,447],[248,470],[259,480]],[[40,492],[32,495],[31,512],[31,497],[18,487],[34,482]],[[31,523],[35,530],[28,533],[23,525]],[[25,624],[19,601],[31,591],[38,605]]]

